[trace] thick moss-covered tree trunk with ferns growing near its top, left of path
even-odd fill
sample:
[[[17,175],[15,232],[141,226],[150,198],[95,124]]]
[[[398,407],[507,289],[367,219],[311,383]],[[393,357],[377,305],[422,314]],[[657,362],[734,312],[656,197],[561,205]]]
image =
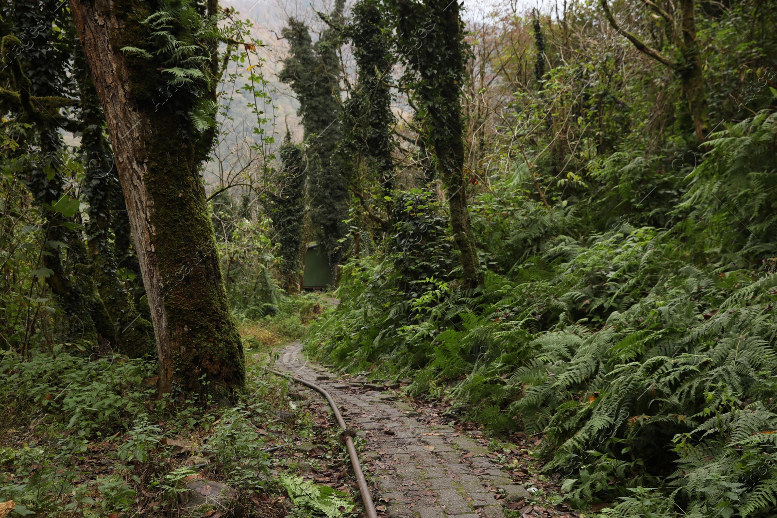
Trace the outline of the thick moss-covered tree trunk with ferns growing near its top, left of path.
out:
[[[207,49],[193,36],[196,28],[182,26],[200,16],[191,2],[162,5],[179,10],[163,30],[182,44]],[[155,13],[149,3],[71,0],[71,9],[124,190],[154,324],[160,391],[231,398],[244,381],[243,350],[199,175],[211,142],[193,122],[198,99],[210,95],[204,92],[210,86],[190,82],[175,89],[159,62],[147,58],[163,52],[154,47],[159,42],[148,28],[148,16]],[[212,77],[213,60],[202,62],[200,74]]]

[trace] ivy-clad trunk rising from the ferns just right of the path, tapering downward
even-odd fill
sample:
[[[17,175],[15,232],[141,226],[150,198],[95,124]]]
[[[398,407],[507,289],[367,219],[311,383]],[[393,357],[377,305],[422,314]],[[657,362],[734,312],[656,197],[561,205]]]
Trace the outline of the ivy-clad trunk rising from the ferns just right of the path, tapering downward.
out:
[[[451,230],[462,262],[462,283],[481,282],[475,238],[467,209],[464,177],[464,124],[461,93],[464,82],[464,42],[457,1],[399,0],[399,38],[416,74],[415,96],[420,99],[429,141],[448,196]]]

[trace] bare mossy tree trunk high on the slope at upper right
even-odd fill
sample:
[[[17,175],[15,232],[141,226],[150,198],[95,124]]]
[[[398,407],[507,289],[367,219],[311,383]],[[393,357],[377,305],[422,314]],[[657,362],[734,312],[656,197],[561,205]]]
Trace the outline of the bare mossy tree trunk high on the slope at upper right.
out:
[[[681,0],[680,54],[682,61],[675,65],[680,75],[682,92],[688,100],[693,127],[700,142],[706,139],[708,127],[707,96],[702,74],[702,57],[696,41],[694,0]]]

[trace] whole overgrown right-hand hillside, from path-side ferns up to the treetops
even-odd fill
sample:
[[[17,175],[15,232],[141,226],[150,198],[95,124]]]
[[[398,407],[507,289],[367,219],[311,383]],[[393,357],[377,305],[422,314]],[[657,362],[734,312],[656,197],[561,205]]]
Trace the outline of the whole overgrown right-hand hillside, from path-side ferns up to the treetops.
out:
[[[679,63],[695,50],[673,50],[690,43],[666,4],[652,17],[650,5],[608,9],[622,32]],[[477,70],[490,56],[486,80],[498,85],[472,103],[500,110],[473,135],[472,155],[485,151],[468,162],[485,184],[470,182],[469,202],[485,285],[458,283],[449,230],[432,230],[447,215],[413,202],[437,193],[398,195],[392,237],[343,266],[341,304],[309,349],[347,370],[410,375],[416,395],[448,398],[495,431],[541,434],[536,454],[578,506],[771,516],[768,5],[692,12],[709,133],[682,74],[611,30],[600,6],[493,19],[470,57]]]

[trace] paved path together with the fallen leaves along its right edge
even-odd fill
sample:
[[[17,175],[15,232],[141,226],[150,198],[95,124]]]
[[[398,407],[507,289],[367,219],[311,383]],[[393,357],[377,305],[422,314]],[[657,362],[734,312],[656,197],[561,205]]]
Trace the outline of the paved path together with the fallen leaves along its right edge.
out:
[[[333,396],[361,439],[363,468],[383,516],[580,516],[563,503],[558,482],[539,475],[530,454],[538,439],[522,433],[487,439],[479,426],[449,416],[445,405],[407,398],[401,383],[338,376],[315,365],[298,342],[280,349],[275,367]],[[299,392],[312,412],[329,408],[311,389]]]

